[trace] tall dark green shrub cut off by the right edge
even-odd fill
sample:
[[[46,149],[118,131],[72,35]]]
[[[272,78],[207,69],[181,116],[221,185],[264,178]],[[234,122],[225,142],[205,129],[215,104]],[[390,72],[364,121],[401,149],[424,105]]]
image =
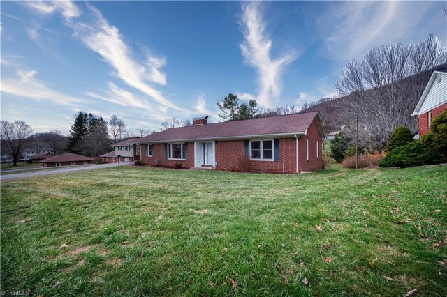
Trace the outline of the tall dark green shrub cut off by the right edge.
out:
[[[422,142],[444,159],[447,158],[447,110],[434,119],[430,131],[422,137]]]

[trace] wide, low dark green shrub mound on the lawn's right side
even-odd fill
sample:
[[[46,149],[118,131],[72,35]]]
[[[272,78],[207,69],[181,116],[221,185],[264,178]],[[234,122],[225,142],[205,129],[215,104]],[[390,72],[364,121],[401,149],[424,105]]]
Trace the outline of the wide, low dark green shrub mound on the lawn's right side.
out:
[[[442,162],[442,158],[420,141],[397,147],[386,154],[379,167],[414,167]]]

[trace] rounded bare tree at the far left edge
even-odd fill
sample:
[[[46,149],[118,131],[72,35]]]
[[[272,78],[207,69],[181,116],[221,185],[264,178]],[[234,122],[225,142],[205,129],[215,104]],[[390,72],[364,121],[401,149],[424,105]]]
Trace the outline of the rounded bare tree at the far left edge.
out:
[[[14,166],[17,166],[22,154],[24,145],[28,142],[28,137],[31,136],[33,129],[24,121],[17,120],[13,123],[9,121],[1,121],[1,139],[6,141],[11,157],[13,157]]]

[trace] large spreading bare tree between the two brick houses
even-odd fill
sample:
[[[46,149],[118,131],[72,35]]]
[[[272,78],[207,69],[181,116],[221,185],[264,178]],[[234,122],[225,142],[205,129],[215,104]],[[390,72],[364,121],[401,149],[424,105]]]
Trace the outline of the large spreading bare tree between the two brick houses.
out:
[[[400,43],[369,50],[344,68],[336,84],[341,96],[346,135],[353,138],[353,119],[358,116],[360,144],[381,151],[399,125],[417,130],[411,114],[425,87],[421,71],[447,63],[446,48],[432,35],[417,45]]]

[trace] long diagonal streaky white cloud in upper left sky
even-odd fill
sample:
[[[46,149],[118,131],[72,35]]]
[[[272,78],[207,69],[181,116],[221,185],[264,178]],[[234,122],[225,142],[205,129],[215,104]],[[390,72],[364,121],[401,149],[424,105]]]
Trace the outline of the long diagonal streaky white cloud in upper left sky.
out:
[[[161,71],[161,68],[166,66],[166,58],[146,51],[145,62],[140,63],[133,59],[131,49],[124,43],[119,29],[110,25],[98,9],[87,3],[87,11],[82,13],[71,1],[27,2],[25,5],[42,14],[60,12],[64,16],[66,26],[73,29],[75,37],[90,50],[100,54],[103,60],[115,69],[114,75],[159,104],[182,111],[150,84],[166,85],[166,75]],[[84,20],[74,20],[81,13]],[[145,104],[146,102],[140,102],[140,105]]]

